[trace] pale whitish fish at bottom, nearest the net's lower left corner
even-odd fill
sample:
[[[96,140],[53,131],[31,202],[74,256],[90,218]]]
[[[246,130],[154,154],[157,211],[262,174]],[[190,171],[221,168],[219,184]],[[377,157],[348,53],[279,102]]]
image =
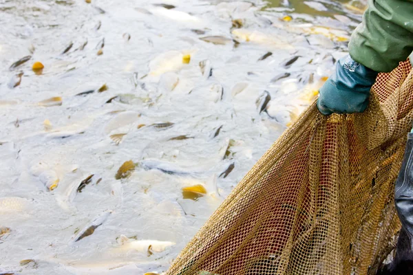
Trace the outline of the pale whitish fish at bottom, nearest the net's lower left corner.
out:
[[[125,235],[120,235],[116,240],[120,247],[117,250],[130,251],[135,250],[137,252],[163,252],[170,246],[176,245],[171,241],[156,241],[156,240],[131,240]],[[150,253],[148,253],[150,254]]]

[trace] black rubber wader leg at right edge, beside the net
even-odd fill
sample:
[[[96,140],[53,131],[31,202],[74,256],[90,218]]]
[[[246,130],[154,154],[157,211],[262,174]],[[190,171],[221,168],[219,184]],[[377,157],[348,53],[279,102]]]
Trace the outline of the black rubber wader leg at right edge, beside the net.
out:
[[[394,187],[394,203],[402,225],[396,256],[378,274],[413,274],[413,133],[407,136],[403,163]]]

